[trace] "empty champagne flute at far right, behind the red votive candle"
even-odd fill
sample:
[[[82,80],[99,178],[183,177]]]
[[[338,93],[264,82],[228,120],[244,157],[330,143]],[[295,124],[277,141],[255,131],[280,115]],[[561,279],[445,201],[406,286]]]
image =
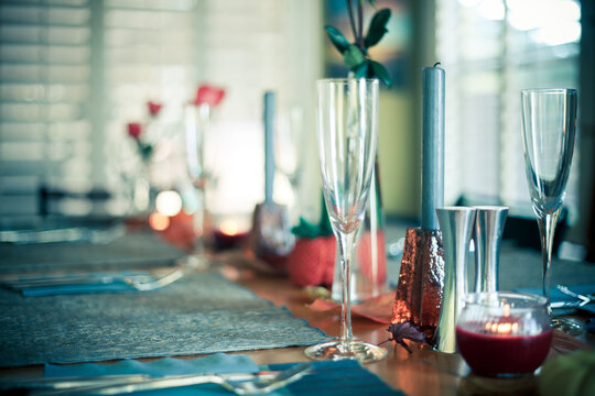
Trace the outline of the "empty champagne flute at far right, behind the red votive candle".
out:
[[[543,254],[543,295],[550,308],[550,267],[555,224],[564,202],[574,152],[576,90],[521,90],[522,150],[531,204],[536,212]],[[569,333],[576,323],[552,319],[552,326]]]

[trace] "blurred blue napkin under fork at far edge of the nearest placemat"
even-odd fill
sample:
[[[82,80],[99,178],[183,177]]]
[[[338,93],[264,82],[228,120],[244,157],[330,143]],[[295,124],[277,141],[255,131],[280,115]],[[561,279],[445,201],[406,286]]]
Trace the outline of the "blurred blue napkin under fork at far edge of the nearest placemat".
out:
[[[113,275],[116,278],[112,282],[101,282],[105,276]],[[32,287],[11,287],[14,288],[25,297],[43,297],[43,296],[58,296],[58,295],[73,295],[73,294],[88,294],[88,293],[117,293],[117,292],[137,292],[137,289],[127,284],[122,277],[125,276],[139,276],[150,274],[140,271],[126,271],[118,273],[93,273],[88,274],[89,278],[96,278],[97,283],[72,283],[65,285],[51,285],[51,286],[32,286]],[[64,275],[61,278],[68,279],[72,276],[76,278],[78,275]],[[86,275],[87,276],[87,275]],[[40,277],[36,277],[37,279]],[[151,277],[152,278],[152,277]],[[25,280],[20,278],[20,280]],[[51,279],[51,277],[47,277]]]

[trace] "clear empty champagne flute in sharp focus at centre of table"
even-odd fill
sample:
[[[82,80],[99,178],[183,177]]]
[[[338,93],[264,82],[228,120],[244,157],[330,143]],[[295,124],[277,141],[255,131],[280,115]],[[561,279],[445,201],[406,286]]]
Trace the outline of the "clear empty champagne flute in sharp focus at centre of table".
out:
[[[317,81],[317,136],[323,194],[338,241],[343,276],[340,337],[306,349],[315,360],[386,356],[382,348],[355,340],[351,332],[350,262],[369,198],[378,134],[378,80]]]

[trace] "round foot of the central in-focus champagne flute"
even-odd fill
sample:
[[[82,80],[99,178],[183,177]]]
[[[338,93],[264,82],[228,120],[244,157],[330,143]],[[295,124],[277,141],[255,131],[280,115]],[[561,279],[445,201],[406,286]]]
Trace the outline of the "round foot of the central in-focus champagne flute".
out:
[[[387,350],[358,340],[335,340],[309,346],[305,354],[312,360],[336,361],[350,359],[360,363],[370,363],[385,359]]]

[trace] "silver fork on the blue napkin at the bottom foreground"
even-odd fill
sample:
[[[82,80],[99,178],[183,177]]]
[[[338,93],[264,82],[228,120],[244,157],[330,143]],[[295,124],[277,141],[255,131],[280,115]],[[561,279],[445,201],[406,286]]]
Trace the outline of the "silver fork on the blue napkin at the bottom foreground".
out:
[[[150,378],[138,382],[120,382],[109,385],[91,385],[71,387],[64,389],[34,389],[30,395],[58,396],[58,395],[119,395],[142,391],[165,389],[198,384],[218,384],[237,395],[257,395],[269,393],[286,386],[312,371],[312,364],[301,363],[275,375],[266,376],[256,381],[252,374],[235,375],[232,377],[217,374],[178,375],[164,378]],[[234,381],[235,380],[235,381]],[[244,382],[237,382],[245,380]]]

